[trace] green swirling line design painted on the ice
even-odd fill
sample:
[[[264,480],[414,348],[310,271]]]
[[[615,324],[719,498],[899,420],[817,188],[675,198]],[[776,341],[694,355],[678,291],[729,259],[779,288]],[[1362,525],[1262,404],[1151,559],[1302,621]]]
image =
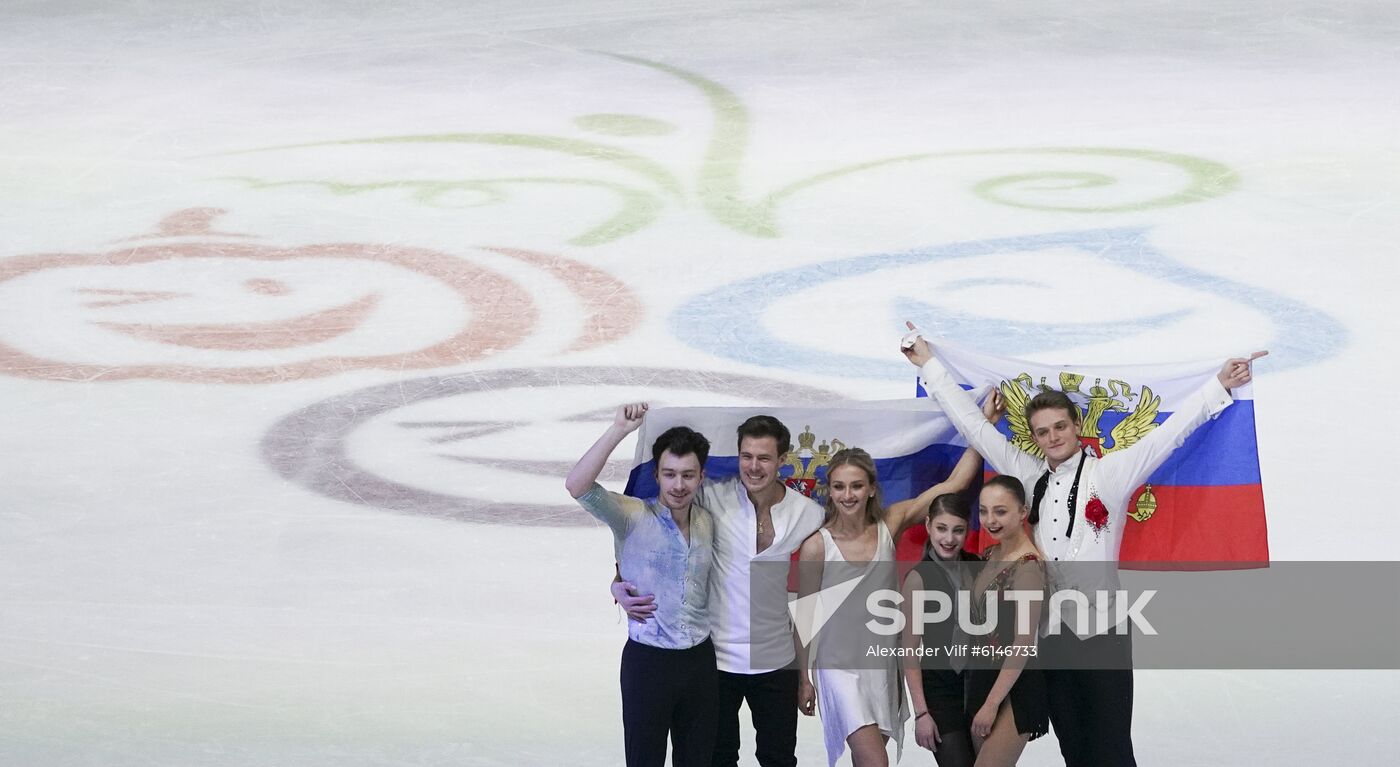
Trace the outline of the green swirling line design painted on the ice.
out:
[[[885,157],[871,160],[868,162],[832,168],[829,171],[794,181],[767,193],[748,196],[743,189],[742,175],[745,158],[748,155],[752,120],[749,118],[749,109],[734,91],[693,71],[659,62],[617,53],[598,53],[619,62],[626,62],[666,74],[680,83],[685,83],[704,97],[710,106],[713,125],[710,137],[706,143],[704,155],[700,160],[699,168],[693,172],[693,179],[690,179],[689,183],[682,181],[682,174],[678,174],[661,162],[644,157],[630,148],[591,139],[542,136],[533,133],[434,133],[417,136],[372,136],[364,139],[260,147],[225,153],[225,155],[337,146],[476,144],[556,153],[585,158],[623,172],[630,179],[630,183],[602,178],[535,175],[463,178],[447,181],[393,179],[368,183],[350,183],[329,179],[270,181],[262,178],[234,176],[234,181],[245,182],[253,189],[316,186],[330,192],[332,195],[361,195],[385,189],[400,189],[409,192],[413,200],[434,207],[475,207],[479,204],[497,204],[510,199],[508,188],[512,186],[564,185],[608,192],[617,202],[617,209],[606,220],[589,227],[587,231],[580,232],[570,239],[570,244],[584,246],[603,245],[634,234],[651,225],[668,203],[687,206],[692,204],[692,200],[699,203],[699,206],[714,221],[734,231],[757,238],[776,238],[781,237],[781,230],[778,228],[778,213],[781,206],[794,195],[855,174],[872,171],[875,168],[932,160],[1018,155],[1114,158],[1169,165],[1186,176],[1184,186],[1180,186],[1172,193],[1114,204],[1047,204],[1044,202],[1032,202],[1023,197],[1025,193],[1074,192],[1107,188],[1119,183],[1117,178],[1096,171],[1037,171],[1009,174],[979,181],[970,189],[972,193],[990,203],[1056,213],[1124,213],[1198,203],[1226,195],[1239,185],[1239,176],[1235,175],[1235,172],[1226,165],[1189,154],[1121,147],[1012,147],[934,151]],[[578,129],[594,134],[623,140],[668,136],[676,132],[675,125],[644,115],[580,115],[574,119],[574,125]],[[462,192],[476,193],[479,197],[476,202],[466,204],[461,202],[454,203]],[[1021,199],[1016,197],[1018,193],[1022,195]]]

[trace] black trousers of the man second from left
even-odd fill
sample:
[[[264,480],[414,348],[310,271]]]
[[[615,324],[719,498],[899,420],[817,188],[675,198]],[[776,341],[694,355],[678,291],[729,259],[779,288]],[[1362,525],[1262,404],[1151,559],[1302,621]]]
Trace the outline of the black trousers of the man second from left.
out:
[[[797,669],[767,673],[720,672],[720,728],[714,767],[739,763],[739,705],[749,701],[755,752],[763,767],[797,766]]]

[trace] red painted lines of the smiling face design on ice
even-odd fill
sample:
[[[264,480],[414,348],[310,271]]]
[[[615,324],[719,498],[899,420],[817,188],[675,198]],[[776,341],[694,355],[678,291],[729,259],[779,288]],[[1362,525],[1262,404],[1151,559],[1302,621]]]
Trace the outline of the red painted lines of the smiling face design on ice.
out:
[[[210,228],[218,209],[188,209],[168,216],[148,235],[120,242],[157,238],[244,237]],[[573,259],[515,248],[480,248],[531,265],[564,283],[584,308],[584,329],[567,351],[585,350],[631,332],[641,315],[631,290],[616,277]],[[167,379],[218,384],[270,384],[318,378],[357,368],[421,370],[470,363],[508,350],[524,340],[539,319],[532,295],[500,272],[466,258],[426,248],[374,244],[323,244],[270,246],[249,242],[157,242],[136,244],[106,253],[38,253],[0,260],[0,283],[43,270],[73,267],[127,267],[168,260],[248,259],[287,262],[293,259],[370,260],[416,272],[447,286],[469,308],[472,316],[451,337],[423,349],[388,354],[339,354],[255,367],[202,367],[193,364],[94,364],[60,361],[17,349],[0,339],[0,371],[8,375],[49,381]],[[244,281],[249,293],[284,297],[293,291],[270,277]],[[88,301],[84,308],[111,308],[189,297],[161,290],[77,288]],[[150,343],[206,351],[286,350],[323,343],[365,323],[381,305],[378,293],[367,293],[342,305],[294,318],[262,322],[139,323],[92,321],[106,332]]]

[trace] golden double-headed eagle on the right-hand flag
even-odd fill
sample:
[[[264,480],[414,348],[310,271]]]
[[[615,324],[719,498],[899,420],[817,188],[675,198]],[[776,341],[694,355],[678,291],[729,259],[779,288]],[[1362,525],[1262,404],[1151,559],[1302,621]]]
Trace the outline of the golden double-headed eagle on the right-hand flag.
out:
[[[1156,428],[1156,413],[1162,406],[1162,397],[1154,395],[1149,386],[1142,386],[1140,392],[1134,393],[1133,386],[1124,381],[1109,379],[1109,385],[1103,386],[1103,379],[1095,378],[1093,386],[1089,386],[1089,390],[1084,392],[1079,388],[1082,384],[1082,375],[1074,372],[1060,374],[1060,390],[1070,395],[1070,399],[1077,404],[1081,402],[1085,403],[1079,406],[1084,414],[1084,420],[1079,424],[1079,441],[1093,448],[1096,455],[1103,456],[1131,448],[1147,437],[1149,431]],[[1044,377],[1040,378],[1039,384],[1033,382],[1028,372],[1022,372],[1009,381],[1002,381],[998,388],[1001,389],[1001,397],[1007,403],[1011,444],[1036,458],[1044,458],[1044,452],[1030,437],[1030,421],[1026,420],[1026,403],[1035,395],[1053,392],[1054,388],[1046,384]],[[1137,404],[1133,400],[1137,400]],[[1131,411],[1128,410],[1130,407],[1133,409]],[[1109,411],[1127,413],[1127,416],[1109,431],[1109,438],[1105,439],[1103,431],[1099,428],[1099,421]],[[1148,484],[1137,495],[1130,515],[1138,522],[1145,522],[1152,516],[1154,511],[1156,511],[1156,497],[1152,494],[1152,486]]]

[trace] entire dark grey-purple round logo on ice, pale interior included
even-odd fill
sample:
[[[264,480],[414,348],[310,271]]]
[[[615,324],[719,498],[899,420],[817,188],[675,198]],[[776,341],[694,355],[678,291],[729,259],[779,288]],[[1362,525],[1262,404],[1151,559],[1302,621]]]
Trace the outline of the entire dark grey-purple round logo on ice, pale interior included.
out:
[[[836,392],[787,381],[693,370],[473,371],[371,386],[304,407],[273,425],[263,456],[287,480],[351,504],[497,525],[594,525],[561,479],[612,423],[616,406],[578,403],[799,406],[836,399]],[[610,463],[603,479],[622,481],[630,469],[630,460]]]

